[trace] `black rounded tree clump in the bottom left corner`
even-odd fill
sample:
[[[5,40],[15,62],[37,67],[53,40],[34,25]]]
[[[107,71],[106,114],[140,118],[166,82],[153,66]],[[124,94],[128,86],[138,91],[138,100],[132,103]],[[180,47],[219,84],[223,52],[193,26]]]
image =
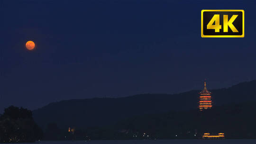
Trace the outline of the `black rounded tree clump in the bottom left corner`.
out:
[[[0,116],[0,143],[35,142],[42,136],[30,110],[10,106]]]

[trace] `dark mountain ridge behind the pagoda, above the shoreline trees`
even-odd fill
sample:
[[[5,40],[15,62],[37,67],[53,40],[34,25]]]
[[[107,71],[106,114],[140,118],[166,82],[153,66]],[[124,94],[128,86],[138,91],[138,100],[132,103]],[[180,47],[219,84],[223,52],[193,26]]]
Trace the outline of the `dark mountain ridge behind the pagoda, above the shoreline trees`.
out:
[[[140,94],[123,98],[72,99],[54,102],[33,111],[33,117],[43,129],[49,123],[60,128],[106,126],[122,119],[144,114],[197,109],[201,90],[179,94]],[[229,88],[210,90],[213,108],[256,100],[256,80]]]

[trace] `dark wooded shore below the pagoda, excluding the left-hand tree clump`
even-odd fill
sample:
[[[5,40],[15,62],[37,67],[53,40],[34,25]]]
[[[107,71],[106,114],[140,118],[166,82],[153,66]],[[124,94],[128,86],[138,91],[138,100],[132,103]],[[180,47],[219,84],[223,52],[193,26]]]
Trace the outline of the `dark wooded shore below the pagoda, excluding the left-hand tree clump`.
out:
[[[146,114],[127,118],[110,126],[75,128],[73,133],[50,124],[45,140],[103,139],[198,139],[203,133],[225,133],[226,138],[256,138],[256,102]]]

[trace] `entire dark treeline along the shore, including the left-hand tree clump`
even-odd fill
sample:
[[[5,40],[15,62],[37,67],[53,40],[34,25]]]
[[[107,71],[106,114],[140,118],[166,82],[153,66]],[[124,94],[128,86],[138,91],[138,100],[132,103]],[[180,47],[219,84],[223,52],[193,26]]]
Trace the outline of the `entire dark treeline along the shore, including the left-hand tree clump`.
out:
[[[198,139],[203,133],[224,133],[226,138],[256,138],[256,101],[160,114],[145,114],[99,127],[58,127],[43,131],[30,110],[9,107],[0,116],[0,142],[36,140]],[[70,129],[70,130],[71,130]]]

